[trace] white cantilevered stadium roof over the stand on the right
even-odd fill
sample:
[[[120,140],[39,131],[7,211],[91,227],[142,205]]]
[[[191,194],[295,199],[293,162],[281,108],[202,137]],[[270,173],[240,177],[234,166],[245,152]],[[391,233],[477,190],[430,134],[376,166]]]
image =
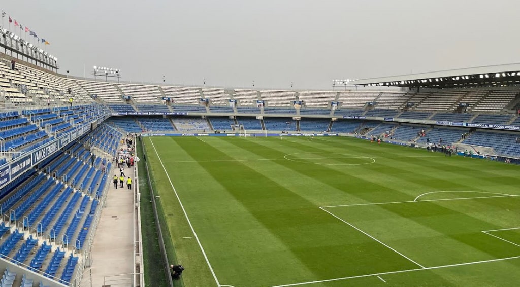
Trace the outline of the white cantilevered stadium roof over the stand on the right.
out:
[[[520,63],[359,79],[349,84],[355,86],[428,87],[437,89],[512,86],[520,84]]]

